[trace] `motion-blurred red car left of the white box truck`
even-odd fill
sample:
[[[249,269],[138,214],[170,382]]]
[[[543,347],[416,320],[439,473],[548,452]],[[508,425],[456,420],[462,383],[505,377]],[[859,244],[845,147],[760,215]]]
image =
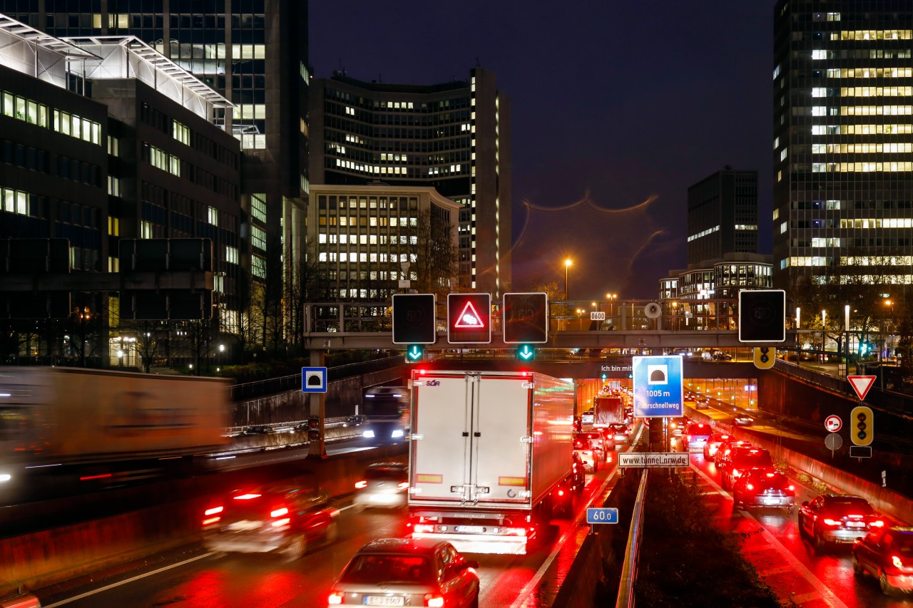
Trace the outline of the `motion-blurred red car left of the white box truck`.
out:
[[[312,477],[236,489],[210,501],[202,529],[207,550],[276,552],[297,560],[311,543],[336,540],[339,509]]]

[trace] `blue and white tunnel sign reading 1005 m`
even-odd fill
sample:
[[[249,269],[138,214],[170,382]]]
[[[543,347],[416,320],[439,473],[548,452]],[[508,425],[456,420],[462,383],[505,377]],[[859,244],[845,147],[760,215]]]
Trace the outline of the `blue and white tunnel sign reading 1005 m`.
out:
[[[682,358],[633,357],[634,415],[641,418],[681,416]]]

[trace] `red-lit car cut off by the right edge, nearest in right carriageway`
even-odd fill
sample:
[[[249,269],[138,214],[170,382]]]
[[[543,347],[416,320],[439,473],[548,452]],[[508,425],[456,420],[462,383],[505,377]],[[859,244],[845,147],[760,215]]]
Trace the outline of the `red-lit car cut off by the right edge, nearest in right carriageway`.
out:
[[[882,526],[853,543],[853,571],[878,580],[881,592],[913,592],[913,528]]]

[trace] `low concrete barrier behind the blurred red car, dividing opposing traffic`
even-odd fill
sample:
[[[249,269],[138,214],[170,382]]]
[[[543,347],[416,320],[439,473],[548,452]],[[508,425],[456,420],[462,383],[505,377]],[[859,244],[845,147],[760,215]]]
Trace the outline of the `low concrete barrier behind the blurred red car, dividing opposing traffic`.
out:
[[[311,468],[320,486],[339,498],[354,491],[368,464],[405,460],[403,446],[386,446],[314,460]],[[199,542],[204,508],[205,498],[199,498],[2,539],[0,598]]]

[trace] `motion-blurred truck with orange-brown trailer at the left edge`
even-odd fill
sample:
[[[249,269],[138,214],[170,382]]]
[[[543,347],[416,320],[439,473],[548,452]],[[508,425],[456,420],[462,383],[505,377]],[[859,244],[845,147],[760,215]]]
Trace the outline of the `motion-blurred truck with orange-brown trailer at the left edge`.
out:
[[[221,378],[62,367],[0,368],[0,481],[26,470],[89,481],[227,443]],[[167,466],[177,466],[170,462]],[[162,465],[165,466],[165,465]],[[147,472],[147,475],[152,473]],[[2,486],[2,484],[0,484]]]

